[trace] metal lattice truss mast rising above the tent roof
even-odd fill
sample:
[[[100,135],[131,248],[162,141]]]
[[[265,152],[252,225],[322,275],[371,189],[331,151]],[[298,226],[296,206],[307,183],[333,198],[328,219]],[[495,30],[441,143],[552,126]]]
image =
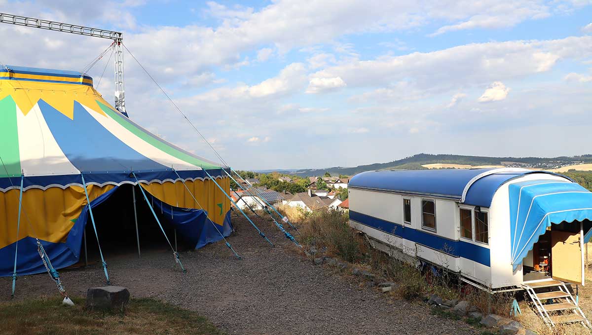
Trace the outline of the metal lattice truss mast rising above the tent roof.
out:
[[[0,12],[0,23],[22,25],[24,27],[40,28],[45,30],[61,31],[76,35],[107,38],[113,40],[113,52],[115,56],[115,108],[121,113],[126,113],[125,90],[123,85],[123,33],[99,28],[83,27],[82,25],[67,24],[38,18],[22,17]]]

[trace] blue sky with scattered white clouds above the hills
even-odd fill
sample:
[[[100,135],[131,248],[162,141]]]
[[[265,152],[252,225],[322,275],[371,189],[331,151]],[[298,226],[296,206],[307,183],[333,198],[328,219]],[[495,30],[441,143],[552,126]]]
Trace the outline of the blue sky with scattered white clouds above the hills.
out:
[[[236,169],[416,153],[592,153],[592,0],[0,0],[0,12],[123,32]],[[111,41],[0,26],[0,63],[82,71]],[[211,160],[130,54],[130,118]],[[112,58],[88,74],[113,101]],[[99,83],[100,82],[100,83]]]

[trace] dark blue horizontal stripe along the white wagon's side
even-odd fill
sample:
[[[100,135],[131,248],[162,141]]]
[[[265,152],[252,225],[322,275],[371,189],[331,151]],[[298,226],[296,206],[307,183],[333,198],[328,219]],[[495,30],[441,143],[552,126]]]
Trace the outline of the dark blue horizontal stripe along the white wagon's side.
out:
[[[392,223],[360,212],[349,211],[349,218],[365,226],[384,231],[401,239],[414,241],[423,246],[430,247],[452,256],[473,260],[485,266],[490,266],[490,250],[477,244],[465,241],[455,241],[435,234],[426,233],[402,224]]]

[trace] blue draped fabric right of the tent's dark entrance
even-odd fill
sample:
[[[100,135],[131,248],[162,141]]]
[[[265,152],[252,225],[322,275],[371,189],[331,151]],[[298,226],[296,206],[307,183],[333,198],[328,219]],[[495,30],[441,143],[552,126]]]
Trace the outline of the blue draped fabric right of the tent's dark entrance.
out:
[[[174,227],[177,236],[191,243],[191,245],[195,246],[195,249],[220,241],[222,239],[220,233],[224,237],[228,237],[232,233],[230,211],[226,213],[223,226],[220,226],[210,221],[207,212],[204,210],[171,206],[148,193],[146,195],[152,202],[155,212],[160,215],[159,217],[162,217],[165,223]]]

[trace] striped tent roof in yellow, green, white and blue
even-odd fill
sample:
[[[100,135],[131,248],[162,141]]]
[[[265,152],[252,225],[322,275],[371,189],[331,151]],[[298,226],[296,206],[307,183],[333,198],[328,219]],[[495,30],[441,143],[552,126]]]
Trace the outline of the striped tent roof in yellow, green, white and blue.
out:
[[[79,72],[0,70],[0,191],[221,175],[214,162],[155,136],[118,112]],[[216,171],[217,170],[217,171]],[[7,178],[9,177],[9,178]]]

